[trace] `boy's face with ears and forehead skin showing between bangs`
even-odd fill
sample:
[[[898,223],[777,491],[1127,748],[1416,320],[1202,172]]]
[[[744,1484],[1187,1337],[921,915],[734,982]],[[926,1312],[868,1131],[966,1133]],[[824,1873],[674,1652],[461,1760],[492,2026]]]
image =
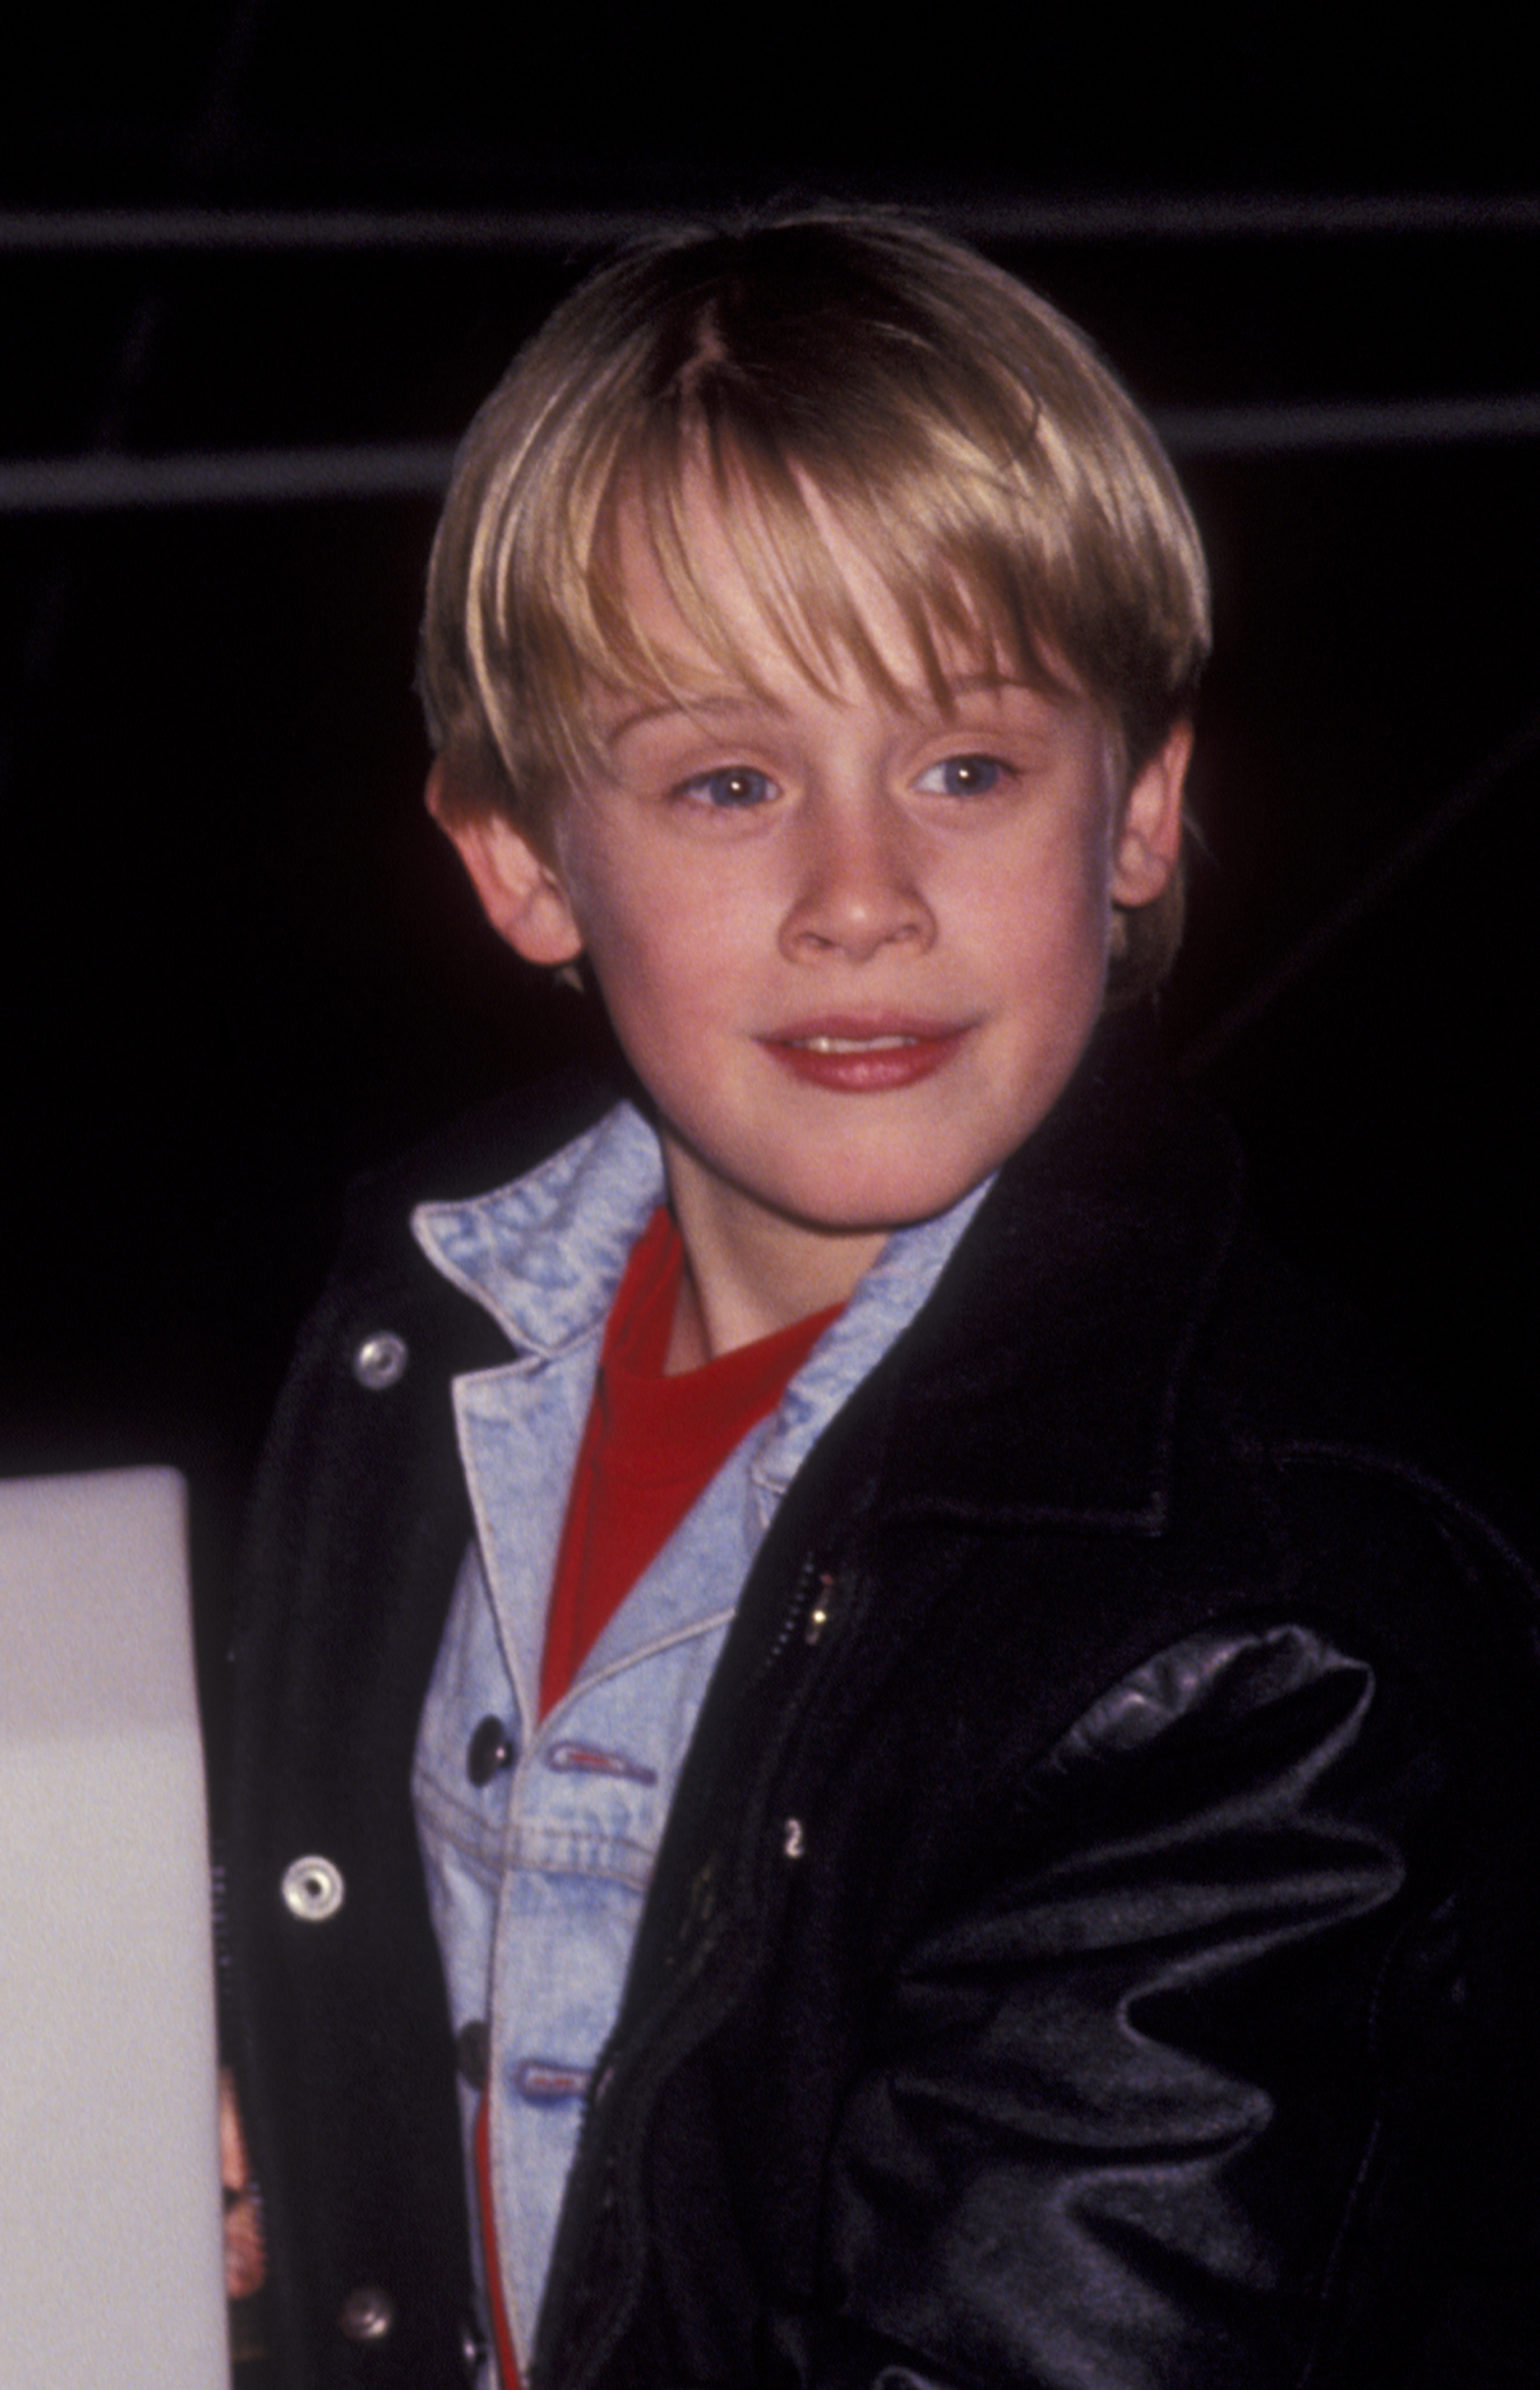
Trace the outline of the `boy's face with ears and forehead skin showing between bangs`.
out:
[[[898,609],[826,523],[903,703],[778,645],[716,523],[688,523],[759,691],[680,619],[637,519],[633,617],[688,703],[614,700],[606,770],[547,860],[506,822],[458,834],[530,961],[587,954],[649,1090],[685,1231],[807,1262],[828,1300],[886,1233],[929,1219],[1048,1114],[1096,1025],[1113,903],[1170,877],[1187,734],[1127,803],[1091,700],[977,676],[936,705]],[[809,1305],[812,1307],[812,1305]]]

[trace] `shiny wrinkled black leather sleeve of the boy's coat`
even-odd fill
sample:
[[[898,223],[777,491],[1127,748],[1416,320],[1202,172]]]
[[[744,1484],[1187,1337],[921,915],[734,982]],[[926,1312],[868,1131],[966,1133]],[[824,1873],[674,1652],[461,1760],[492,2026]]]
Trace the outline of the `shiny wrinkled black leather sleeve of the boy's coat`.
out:
[[[1375,2144],[1404,1711],[1311,1628],[1211,1630],[1041,1761],[1015,1871],[910,1950],[848,2098],[833,2306],[869,2354],[833,2378],[1304,2380]]]

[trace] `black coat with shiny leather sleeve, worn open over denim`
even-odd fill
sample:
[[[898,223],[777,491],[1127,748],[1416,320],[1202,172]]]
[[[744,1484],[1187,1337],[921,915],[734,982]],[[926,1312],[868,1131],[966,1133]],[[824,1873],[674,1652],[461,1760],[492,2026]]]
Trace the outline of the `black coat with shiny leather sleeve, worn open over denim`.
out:
[[[1127,1044],[1003,1171],[750,1575],[542,2390],[1533,2378],[1533,1582]],[[470,1532],[446,1379],[506,1346],[406,1207],[580,1119],[372,1190],[258,1491],[232,1926],[291,2390],[463,2380],[408,1764]],[[377,1331],[408,1360],[370,1386]],[[346,1886],[322,1922],[279,1900],[308,1855]]]

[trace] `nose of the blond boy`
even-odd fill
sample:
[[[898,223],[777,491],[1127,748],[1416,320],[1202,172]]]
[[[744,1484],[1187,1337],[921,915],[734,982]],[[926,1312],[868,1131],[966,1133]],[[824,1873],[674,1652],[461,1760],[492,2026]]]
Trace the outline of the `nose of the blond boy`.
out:
[[[936,918],[922,889],[917,839],[886,796],[809,805],[797,887],[781,925],[790,961],[824,954],[867,963],[883,946],[924,954]]]

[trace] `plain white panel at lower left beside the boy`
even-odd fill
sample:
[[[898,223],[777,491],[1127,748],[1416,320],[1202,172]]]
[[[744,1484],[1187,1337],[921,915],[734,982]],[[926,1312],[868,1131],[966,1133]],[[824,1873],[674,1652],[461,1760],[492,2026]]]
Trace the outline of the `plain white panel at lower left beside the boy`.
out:
[[[184,1487],[0,1484],[0,2390],[229,2383]]]

